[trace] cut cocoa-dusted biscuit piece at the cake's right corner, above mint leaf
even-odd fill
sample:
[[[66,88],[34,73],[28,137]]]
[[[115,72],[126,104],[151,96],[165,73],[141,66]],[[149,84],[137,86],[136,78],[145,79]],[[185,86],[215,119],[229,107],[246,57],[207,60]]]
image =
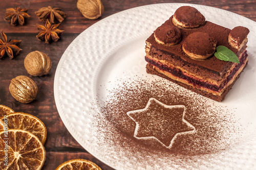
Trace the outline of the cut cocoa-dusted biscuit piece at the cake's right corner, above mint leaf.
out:
[[[229,45],[240,50],[248,42],[247,35],[249,32],[246,27],[238,26],[233,28],[228,35]]]

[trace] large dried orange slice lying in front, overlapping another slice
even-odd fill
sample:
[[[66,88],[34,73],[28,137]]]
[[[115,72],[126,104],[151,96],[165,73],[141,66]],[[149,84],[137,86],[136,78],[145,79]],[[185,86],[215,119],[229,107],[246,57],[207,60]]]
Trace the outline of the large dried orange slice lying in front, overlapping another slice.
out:
[[[18,129],[0,132],[0,169],[39,170],[45,160],[45,147],[32,133]]]

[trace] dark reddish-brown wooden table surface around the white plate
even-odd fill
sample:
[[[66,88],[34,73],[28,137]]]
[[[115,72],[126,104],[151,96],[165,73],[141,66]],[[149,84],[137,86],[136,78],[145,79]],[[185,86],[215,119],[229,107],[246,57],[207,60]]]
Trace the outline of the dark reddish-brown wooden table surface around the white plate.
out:
[[[58,62],[69,44],[84,30],[95,22],[114,13],[148,4],[157,3],[189,3],[211,6],[225,9],[249,19],[256,21],[256,0],[220,0],[220,1],[169,1],[169,0],[102,0],[105,8],[103,15],[96,20],[89,20],[82,16],[76,7],[77,0],[8,0],[1,1],[0,7],[0,30],[6,33],[8,39],[22,40],[20,48],[23,51],[15,56],[13,60],[5,58],[0,60],[0,104],[11,107],[16,112],[30,113],[42,120],[47,127],[47,141],[45,148],[47,158],[42,169],[55,169],[59,164],[70,159],[88,159],[98,164],[102,169],[113,169],[95,158],[84,150],[80,144],[68,132],[58,114],[53,93],[54,75]],[[35,15],[35,11],[42,7],[59,7],[68,14],[67,18],[60,24],[59,29],[65,30],[58,42],[46,44],[36,38],[37,24],[44,25]],[[24,26],[13,27],[4,20],[6,8],[22,7],[28,9],[31,15]],[[49,55],[52,60],[52,71],[50,75],[33,77],[28,74],[24,67],[26,55],[32,51],[41,51]],[[30,104],[17,102],[9,92],[11,79],[24,75],[32,78],[38,86],[37,99]]]

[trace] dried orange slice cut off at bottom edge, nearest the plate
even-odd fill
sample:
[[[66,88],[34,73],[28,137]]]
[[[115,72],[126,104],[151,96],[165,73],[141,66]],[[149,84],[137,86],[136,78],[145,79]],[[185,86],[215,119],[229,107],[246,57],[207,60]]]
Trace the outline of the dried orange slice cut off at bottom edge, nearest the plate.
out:
[[[72,159],[60,164],[55,170],[101,170],[101,168],[95,163],[86,159]]]

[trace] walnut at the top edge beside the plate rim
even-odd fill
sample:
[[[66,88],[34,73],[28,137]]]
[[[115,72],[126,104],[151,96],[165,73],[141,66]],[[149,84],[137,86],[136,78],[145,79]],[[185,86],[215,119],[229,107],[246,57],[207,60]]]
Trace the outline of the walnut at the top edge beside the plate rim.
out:
[[[100,0],[78,0],[76,6],[88,19],[97,19],[104,12],[104,6]]]

